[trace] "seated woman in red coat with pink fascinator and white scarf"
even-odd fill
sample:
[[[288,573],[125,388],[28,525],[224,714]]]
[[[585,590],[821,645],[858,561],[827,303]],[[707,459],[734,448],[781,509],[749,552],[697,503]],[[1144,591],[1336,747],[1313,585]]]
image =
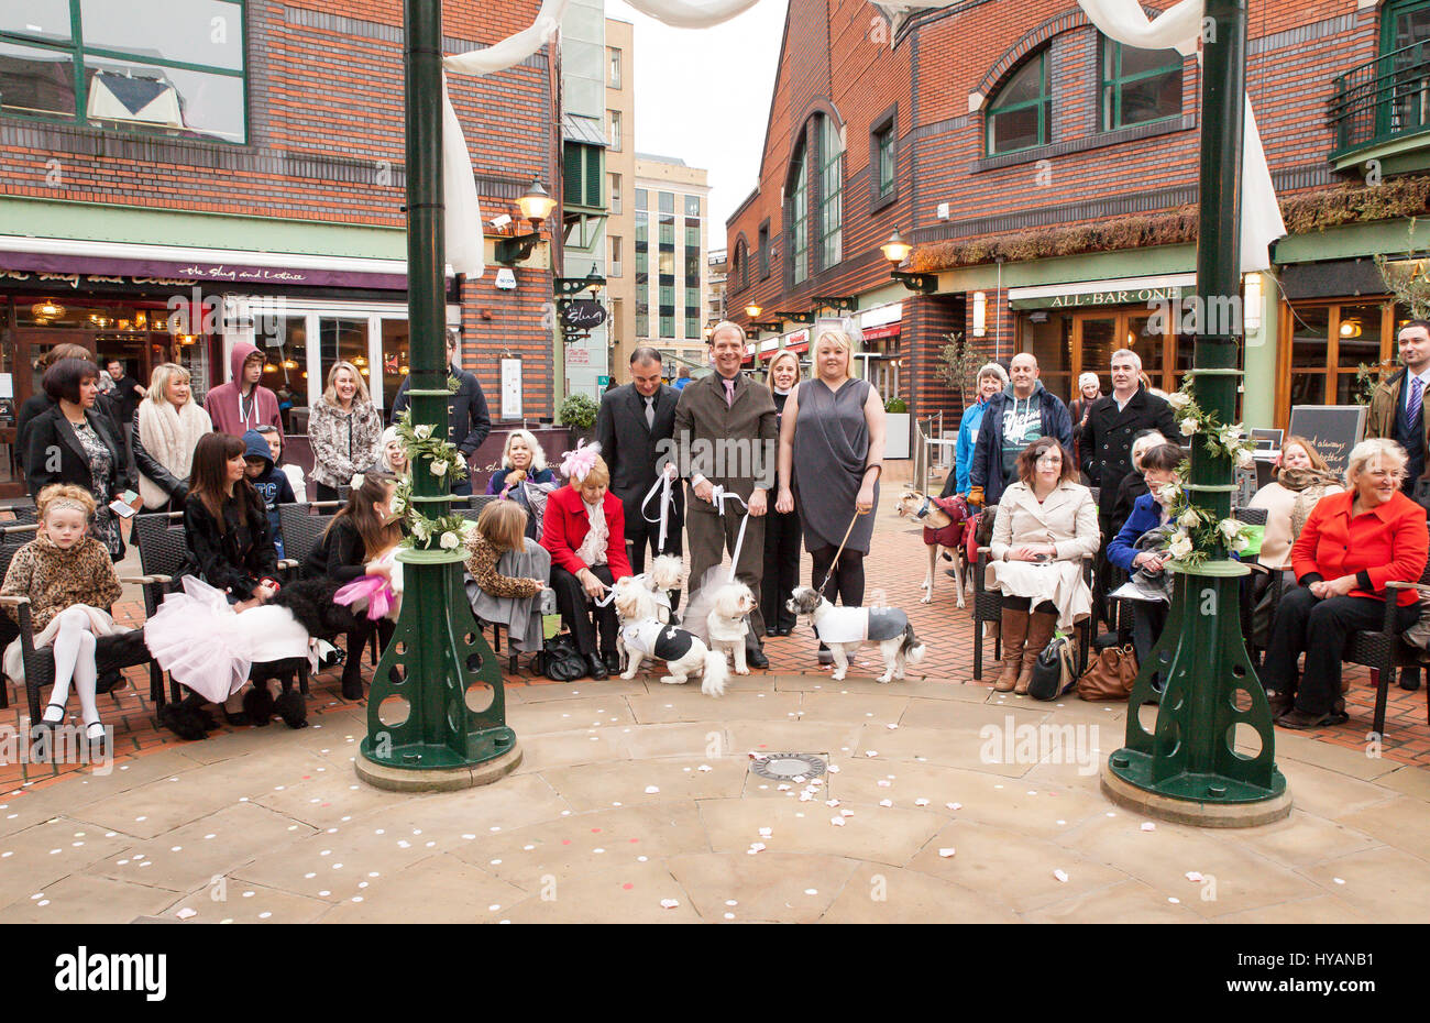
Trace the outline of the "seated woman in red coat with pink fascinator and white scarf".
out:
[[[561,471],[571,484],[546,499],[541,538],[541,545],[551,551],[551,588],[556,591],[561,621],[575,637],[591,677],[598,680],[618,671],[621,660],[616,610],[611,604],[595,607],[592,601],[605,597],[616,579],[631,575],[625,512],[621,498],[606,489],[611,471],[599,451],[592,444],[566,452]]]

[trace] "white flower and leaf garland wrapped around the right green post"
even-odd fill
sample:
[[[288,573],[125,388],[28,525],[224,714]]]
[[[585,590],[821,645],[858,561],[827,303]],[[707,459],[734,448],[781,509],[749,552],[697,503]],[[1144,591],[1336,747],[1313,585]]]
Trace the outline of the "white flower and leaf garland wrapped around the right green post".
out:
[[[1191,376],[1183,382],[1180,391],[1167,395],[1167,403],[1178,416],[1183,436],[1200,438],[1203,449],[1211,458],[1230,458],[1238,469],[1256,465],[1253,456],[1256,445],[1247,436],[1243,424],[1223,424],[1214,413],[1204,411],[1197,403]],[[1190,462],[1177,466],[1178,479],[1187,479],[1190,474]],[[1217,557],[1220,547],[1240,554],[1251,542],[1250,527],[1246,522],[1236,517],[1217,521],[1213,512],[1193,504],[1181,484],[1164,484],[1158,488],[1158,496],[1167,501],[1171,521],[1177,524],[1177,532],[1167,545],[1167,552],[1180,564],[1201,565],[1208,558]]]

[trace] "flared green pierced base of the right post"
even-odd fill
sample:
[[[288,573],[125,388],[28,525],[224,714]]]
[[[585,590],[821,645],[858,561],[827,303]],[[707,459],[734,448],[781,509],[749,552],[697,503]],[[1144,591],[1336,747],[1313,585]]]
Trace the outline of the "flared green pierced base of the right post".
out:
[[[1236,562],[1180,574],[1168,628],[1141,665],[1127,704],[1127,743],[1103,765],[1114,803],[1180,824],[1251,827],[1291,813],[1276,767],[1271,708],[1241,641],[1237,588],[1250,569]],[[1138,711],[1157,704],[1148,733]],[[1258,740],[1256,755],[1236,748],[1238,725]]]

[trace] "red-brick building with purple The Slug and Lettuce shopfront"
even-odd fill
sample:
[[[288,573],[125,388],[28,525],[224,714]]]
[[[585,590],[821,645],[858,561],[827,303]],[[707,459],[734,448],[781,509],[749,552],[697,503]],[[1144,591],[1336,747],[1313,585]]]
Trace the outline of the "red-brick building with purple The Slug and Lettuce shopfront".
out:
[[[0,441],[60,341],[146,381],[183,362],[200,393],[253,341],[299,419],[347,359],[390,408],[408,369],[402,3],[20,7],[0,10]],[[449,4],[445,50],[498,41],[538,9]],[[486,219],[519,220],[532,180],[561,195],[552,53],[450,82]],[[448,319],[493,421],[552,415],[549,238],[512,288],[496,265],[449,278]],[[521,366],[505,396],[503,358]],[[17,488],[13,454],[0,484]]]

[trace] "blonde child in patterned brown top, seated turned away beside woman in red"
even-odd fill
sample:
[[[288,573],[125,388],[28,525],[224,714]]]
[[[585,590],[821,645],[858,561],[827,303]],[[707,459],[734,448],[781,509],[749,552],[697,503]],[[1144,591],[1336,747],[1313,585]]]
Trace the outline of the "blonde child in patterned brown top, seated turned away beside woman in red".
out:
[[[512,648],[541,650],[541,594],[551,577],[551,555],[526,537],[521,505],[493,501],[482,509],[466,538],[466,571],[472,614],[505,625]]]

